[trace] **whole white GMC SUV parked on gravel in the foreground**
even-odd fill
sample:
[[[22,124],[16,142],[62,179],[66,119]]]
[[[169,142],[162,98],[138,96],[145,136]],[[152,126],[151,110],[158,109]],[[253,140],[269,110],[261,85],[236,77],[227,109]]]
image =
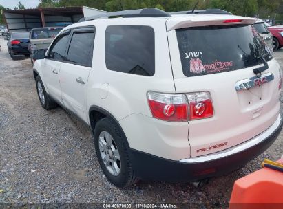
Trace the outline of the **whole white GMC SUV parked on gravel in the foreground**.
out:
[[[282,129],[280,66],[255,19],[183,13],[98,15],[34,53],[42,107],[60,104],[90,125],[101,168],[118,187],[229,173]]]

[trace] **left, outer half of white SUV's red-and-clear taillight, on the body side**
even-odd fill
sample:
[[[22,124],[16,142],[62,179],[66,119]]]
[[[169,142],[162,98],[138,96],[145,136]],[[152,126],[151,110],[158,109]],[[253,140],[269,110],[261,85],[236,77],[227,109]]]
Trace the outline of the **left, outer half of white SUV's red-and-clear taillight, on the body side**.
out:
[[[185,121],[188,104],[185,94],[147,93],[147,100],[154,118],[167,121]]]

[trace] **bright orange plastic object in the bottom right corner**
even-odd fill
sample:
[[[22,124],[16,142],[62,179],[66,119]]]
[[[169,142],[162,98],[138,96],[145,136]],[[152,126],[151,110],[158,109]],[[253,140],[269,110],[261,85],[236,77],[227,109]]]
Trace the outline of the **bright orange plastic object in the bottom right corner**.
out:
[[[283,161],[278,161],[283,164]],[[262,168],[234,183],[229,209],[283,208],[283,173]]]

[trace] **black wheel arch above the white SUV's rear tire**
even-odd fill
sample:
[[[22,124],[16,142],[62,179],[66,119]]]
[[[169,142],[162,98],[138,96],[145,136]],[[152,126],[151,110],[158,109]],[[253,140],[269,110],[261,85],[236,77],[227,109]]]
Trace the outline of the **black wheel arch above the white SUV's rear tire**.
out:
[[[118,122],[118,120],[116,120],[116,118],[111,113],[109,113],[109,111],[103,109],[102,107],[98,107],[96,105],[92,105],[89,110],[90,127],[92,128],[92,130],[95,129],[95,126],[98,120],[101,120],[102,118],[106,118],[106,117],[113,120],[117,124],[117,126],[120,128],[120,131],[123,134],[123,137],[125,137],[126,139],[127,147],[129,148],[129,142],[127,141],[127,137],[122,129],[122,126],[120,126],[120,123]]]

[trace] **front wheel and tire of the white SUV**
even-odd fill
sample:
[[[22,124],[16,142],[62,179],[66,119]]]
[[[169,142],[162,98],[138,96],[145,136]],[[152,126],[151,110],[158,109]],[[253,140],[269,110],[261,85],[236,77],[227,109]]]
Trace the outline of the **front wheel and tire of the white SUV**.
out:
[[[39,76],[35,78],[35,83],[37,95],[39,96],[39,102],[41,102],[43,109],[49,110],[57,107],[56,102],[54,102],[46,93],[42,80]]]

